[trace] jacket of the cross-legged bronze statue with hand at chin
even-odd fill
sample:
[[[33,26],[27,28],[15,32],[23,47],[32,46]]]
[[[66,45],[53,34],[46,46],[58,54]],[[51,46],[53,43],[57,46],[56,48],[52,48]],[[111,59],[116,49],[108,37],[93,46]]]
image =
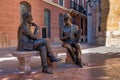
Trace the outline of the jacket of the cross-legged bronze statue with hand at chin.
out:
[[[34,33],[30,29],[30,25],[21,24],[18,28],[18,46],[17,50],[33,50],[34,40],[37,39],[37,28]]]

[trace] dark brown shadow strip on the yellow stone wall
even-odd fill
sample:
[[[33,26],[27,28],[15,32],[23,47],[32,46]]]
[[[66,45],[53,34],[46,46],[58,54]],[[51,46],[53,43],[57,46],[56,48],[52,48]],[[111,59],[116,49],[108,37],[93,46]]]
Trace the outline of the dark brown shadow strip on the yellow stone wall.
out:
[[[101,0],[101,25],[99,29],[98,43],[106,45],[106,31],[109,21],[110,2],[109,0]]]

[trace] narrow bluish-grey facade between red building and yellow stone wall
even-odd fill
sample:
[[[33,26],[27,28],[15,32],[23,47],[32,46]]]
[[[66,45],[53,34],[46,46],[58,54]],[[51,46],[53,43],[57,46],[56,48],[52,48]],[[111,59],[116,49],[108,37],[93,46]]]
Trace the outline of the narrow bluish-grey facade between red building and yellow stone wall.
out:
[[[101,0],[87,1],[87,19],[87,42],[98,44],[101,24]]]

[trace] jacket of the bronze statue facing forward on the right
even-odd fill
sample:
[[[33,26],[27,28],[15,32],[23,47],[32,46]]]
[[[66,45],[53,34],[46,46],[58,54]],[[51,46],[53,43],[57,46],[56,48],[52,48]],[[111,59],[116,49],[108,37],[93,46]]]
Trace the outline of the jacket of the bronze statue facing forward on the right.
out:
[[[77,25],[71,24],[71,26],[63,26],[61,28],[60,38],[68,36],[68,38],[63,39],[63,43],[74,44],[78,43],[80,39],[81,32],[78,30]]]

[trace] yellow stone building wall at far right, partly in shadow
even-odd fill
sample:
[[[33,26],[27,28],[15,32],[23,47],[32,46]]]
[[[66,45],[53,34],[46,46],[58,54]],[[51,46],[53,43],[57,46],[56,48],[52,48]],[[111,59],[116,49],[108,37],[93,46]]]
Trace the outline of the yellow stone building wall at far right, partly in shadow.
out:
[[[120,0],[101,1],[101,32],[106,46],[120,46]],[[105,32],[106,31],[106,32]],[[102,40],[104,39],[102,38]]]

